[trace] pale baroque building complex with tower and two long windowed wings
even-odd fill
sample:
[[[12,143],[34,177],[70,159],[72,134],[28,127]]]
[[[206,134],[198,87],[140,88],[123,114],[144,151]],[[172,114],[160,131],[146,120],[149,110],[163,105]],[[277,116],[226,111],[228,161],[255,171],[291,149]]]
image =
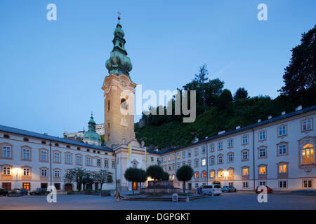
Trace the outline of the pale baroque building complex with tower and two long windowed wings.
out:
[[[237,190],[254,190],[260,185],[274,190],[315,189],[316,106],[298,106],[294,112],[284,111],[275,118],[219,132],[189,146],[146,151],[135,137],[136,83],[130,76],[132,64],[120,23],[112,42],[113,50],[105,63],[109,74],[102,86],[104,145],[92,115],[80,141],[68,139],[65,132],[64,138],[58,138],[0,125],[0,188],[34,190],[53,185],[57,190],[76,190],[75,183],[65,182],[65,174],[69,169],[83,167],[91,173],[100,169],[111,172],[113,181],[105,183],[103,189],[131,190],[139,186],[131,186],[124,179],[125,170],[150,165],[162,166],[174,186],[182,188],[176,170],[190,165],[194,176],[186,183],[187,189],[214,181]],[[89,187],[100,188],[98,183]]]

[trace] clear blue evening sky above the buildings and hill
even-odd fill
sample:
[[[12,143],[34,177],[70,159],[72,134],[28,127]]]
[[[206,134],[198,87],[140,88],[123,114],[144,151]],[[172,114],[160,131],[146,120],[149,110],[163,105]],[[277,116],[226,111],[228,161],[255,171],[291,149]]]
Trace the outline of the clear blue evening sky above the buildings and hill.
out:
[[[46,20],[48,3],[57,21]],[[268,21],[257,19],[259,3]],[[62,137],[87,130],[91,111],[103,123],[118,11],[131,78],[143,90],[176,90],[205,63],[232,93],[245,87],[275,98],[291,48],[316,24],[315,8],[314,0],[2,0],[0,124]]]

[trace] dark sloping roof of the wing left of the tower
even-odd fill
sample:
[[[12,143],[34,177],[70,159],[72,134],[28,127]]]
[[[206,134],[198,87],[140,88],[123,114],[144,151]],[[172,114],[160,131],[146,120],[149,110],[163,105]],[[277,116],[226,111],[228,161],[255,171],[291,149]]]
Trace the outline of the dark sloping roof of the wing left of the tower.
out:
[[[29,131],[14,128],[14,127],[7,127],[7,126],[0,125],[0,131],[12,133],[12,134],[22,134],[22,135],[25,135],[28,137],[34,137],[34,138],[38,138],[38,139],[46,139],[49,141],[58,141],[58,142],[61,142],[64,144],[72,144],[72,145],[82,146],[82,147],[86,147],[86,148],[93,148],[93,149],[98,149],[98,150],[102,150],[102,151],[114,152],[114,151],[112,151],[111,148],[108,148],[108,147],[94,146],[94,145],[86,144],[84,142],[72,141],[70,139],[63,139],[63,138],[54,137],[54,136],[47,135],[47,134],[39,134],[37,132],[29,132]]]

